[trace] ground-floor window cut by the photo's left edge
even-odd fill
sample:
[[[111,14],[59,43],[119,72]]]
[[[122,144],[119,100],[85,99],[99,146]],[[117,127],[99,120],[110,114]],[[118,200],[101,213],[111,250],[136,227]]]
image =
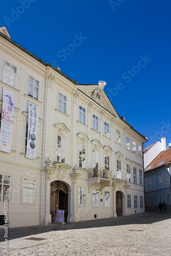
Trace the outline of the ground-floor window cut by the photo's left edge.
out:
[[[0,202],[10,201],[10,182],[10,176],[0,174]]]

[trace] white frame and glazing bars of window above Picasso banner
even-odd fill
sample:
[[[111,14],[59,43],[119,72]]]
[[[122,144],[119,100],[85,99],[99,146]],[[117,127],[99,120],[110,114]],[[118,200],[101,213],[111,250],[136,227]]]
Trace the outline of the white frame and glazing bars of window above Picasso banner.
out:
[[[7,63],[8,65],[10,65],[10,69],[7,69],[5,67],[5,63]],[[12,70],[15,69],[16,73]],[[5,72],[9,72],[9,76],[5,76]],[[8,61],[4,60],[4,67],[3,67],[3,74],[2,74],[2,81],[6,84],[8,84],[9,86],[15,88],[16,86],[16,74],[17,74],[17,68],[15,66],[13,66],[11,63],[9,63]],[[12,79],[12,76],[14,77],[14,79]],[[5,77],[9,79],[9,81],[5,81]]]

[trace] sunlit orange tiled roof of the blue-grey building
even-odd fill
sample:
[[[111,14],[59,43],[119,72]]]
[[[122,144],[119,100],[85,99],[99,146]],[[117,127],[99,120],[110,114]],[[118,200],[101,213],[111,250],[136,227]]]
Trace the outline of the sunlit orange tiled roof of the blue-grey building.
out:
[[[153,159],[150,164],[146,166],[144,172],[151,172],[151,170],[161,168],[168,164],[171,165],[171,147],[167,150],[160,152],[160,154],[155,159]]]

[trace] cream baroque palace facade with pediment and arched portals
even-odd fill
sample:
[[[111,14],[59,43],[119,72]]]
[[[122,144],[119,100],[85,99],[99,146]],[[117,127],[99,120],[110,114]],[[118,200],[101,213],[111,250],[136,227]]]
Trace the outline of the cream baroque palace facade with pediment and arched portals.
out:
[[[2,117],[3,90],[14,93],[11,150],[0,151],[1,225],[5,200],[9,227],[49,225],[57,209],[66,222],[144,212],[146,138],[118,115],[105,82],[78,84],[14,42],[5,27],[0,40]],[[28,102],[38,111],[35,158],[26,155]]]

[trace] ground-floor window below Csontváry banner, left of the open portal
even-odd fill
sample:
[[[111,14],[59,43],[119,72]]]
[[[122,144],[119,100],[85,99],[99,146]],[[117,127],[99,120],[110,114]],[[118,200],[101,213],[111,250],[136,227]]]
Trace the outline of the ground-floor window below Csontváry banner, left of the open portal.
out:
[[[36,181],[23,179],[23,203],[35,204]]]

